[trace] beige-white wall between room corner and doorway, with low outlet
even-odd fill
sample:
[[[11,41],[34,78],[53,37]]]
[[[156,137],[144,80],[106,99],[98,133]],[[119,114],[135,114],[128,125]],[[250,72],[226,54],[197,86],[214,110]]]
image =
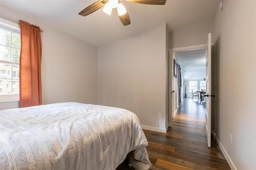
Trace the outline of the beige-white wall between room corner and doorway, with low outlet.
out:
[[[134,112],[165,129],[166,24],[98,48],[98,104]],[[162,113],[162,119],[158,119]]]

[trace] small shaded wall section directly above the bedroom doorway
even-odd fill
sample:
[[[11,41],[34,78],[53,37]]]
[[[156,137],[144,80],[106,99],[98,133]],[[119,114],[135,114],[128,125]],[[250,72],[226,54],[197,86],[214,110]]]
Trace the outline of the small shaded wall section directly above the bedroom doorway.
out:
[[[213,29],[214,20],[212,19],[173,30],[170,32],[169,48],[204,44],[207,42],[208,33],[212,33]]]

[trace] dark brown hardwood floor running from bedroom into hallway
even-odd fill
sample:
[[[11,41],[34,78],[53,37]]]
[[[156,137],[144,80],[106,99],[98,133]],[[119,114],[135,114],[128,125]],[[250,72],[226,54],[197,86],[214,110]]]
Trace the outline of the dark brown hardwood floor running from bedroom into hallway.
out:
[[[205,135],[205,105],[185,98],[166,134],[144,130],[152,170],[230,170],[212,137],[208,148]],[[127,162],[118,170],[128,169]]]

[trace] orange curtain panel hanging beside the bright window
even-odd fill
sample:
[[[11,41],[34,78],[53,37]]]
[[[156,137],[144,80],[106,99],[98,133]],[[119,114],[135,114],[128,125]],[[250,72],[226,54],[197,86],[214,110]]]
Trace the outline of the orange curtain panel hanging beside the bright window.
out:
[[[20,20],[20,36],[20,107],[42,105],[40,28]]]

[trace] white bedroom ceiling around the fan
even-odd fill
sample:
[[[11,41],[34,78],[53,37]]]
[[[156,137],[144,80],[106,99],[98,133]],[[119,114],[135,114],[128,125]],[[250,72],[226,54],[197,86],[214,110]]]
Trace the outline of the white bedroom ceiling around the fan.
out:
[[[213,18],[219,0],[167,0],[164,6],[122,0],[131,19],[123,26],[117,12],[108,16],[102,9],[83,17],[78,13],[96,0],[0,0],[53,28],[92,45],[100,46],[167,23],[169,31]]]

